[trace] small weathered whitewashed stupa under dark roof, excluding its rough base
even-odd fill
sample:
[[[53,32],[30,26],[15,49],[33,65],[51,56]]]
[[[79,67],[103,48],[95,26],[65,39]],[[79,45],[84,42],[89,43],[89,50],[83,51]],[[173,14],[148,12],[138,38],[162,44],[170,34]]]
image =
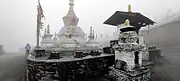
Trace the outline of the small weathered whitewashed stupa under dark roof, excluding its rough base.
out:
[[[135,27],[130,26],[127,19],[124,27],[120,29],[119,43],[115,45],[115,60],[124,61],[127,71],[132,71],[136,66],[142,65],[141,46],[137,43],[139,37],[135,32]],[[118,64],[117,64],[118,65]],[[123,67],[118,67],[123,69]]]

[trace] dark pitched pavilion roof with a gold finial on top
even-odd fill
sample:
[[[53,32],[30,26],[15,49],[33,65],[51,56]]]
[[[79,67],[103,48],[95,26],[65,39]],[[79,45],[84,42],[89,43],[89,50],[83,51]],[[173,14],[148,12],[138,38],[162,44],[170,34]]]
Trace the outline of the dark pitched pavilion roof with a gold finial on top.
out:
[[[126,19],[130,21],[130,25],[136,28],[137,33],[141,27],[153,25],[155,23],[141,13],[131,12],[131,6],[129,5],[128,12],[116,11],[109,19],[104,22],[104,24],[118,26],[120,24],[123,24]]]

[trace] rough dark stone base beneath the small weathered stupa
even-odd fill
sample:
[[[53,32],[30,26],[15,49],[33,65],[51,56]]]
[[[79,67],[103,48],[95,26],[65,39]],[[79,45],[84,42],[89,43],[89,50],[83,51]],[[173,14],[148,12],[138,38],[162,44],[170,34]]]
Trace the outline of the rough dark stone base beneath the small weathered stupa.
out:
[[[138,71],[123,71],[110,67],[109,78],[113,81],[151,81],[152,71],[150,69],[141,69]]]

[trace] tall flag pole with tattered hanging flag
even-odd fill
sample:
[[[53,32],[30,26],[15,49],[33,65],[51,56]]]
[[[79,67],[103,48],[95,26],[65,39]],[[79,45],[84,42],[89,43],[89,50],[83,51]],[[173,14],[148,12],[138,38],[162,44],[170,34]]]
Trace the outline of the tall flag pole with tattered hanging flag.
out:
[[[40,36],[40,29],[42,29],[43,26],[43,22],[42,22],[42,18],[44,18],[44,14],[43,14],[43,9],[42,6],[40,4],[40,0],[38,0],[38,6],[37,6],[37,45],[36,47],[39,47],[39,36]]]

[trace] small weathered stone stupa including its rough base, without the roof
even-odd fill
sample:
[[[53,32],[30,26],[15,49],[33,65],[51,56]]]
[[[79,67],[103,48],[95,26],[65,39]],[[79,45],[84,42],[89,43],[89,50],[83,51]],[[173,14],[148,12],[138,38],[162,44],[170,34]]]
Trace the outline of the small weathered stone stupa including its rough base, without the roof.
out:
[[[115,66],[111,68],[110,76],[117,81],[150,81],[151,70],[142,67],[142,55],[144,46],[138,43],[139,35],[135,27],[130,25],[127,19],[124,26],[120,28],[118,43],[115,50]]]

